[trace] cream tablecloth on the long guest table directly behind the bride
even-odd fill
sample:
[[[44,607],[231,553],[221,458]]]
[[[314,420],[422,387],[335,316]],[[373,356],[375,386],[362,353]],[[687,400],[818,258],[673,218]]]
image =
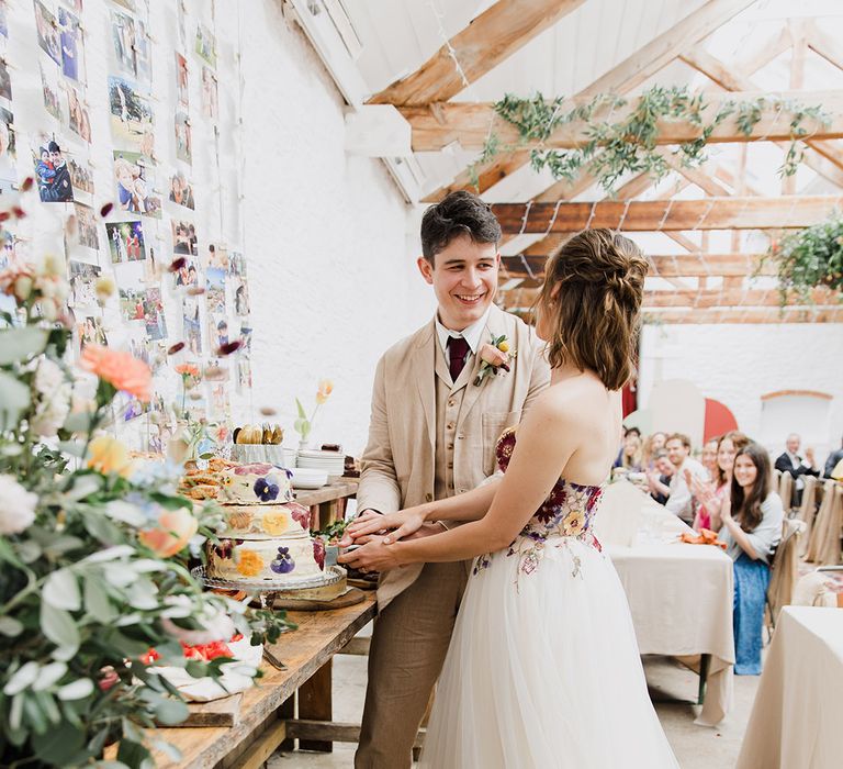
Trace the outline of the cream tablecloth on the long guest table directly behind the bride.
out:
[[[641,654],[711,655],[706,700],[695,723],[713,726],[732,703],[732,559],[711,545],[677,542],[690,530],[632,491],[626,483],[607,489],[598,522],[606,515],[597,535],[603,534],[604,549],[627,593]],[[621,515],[633,515],[636,521],[633,535],[622,535],[632,539],[628,545],[611,540],[614,533],[629,528],[618,524]]]

